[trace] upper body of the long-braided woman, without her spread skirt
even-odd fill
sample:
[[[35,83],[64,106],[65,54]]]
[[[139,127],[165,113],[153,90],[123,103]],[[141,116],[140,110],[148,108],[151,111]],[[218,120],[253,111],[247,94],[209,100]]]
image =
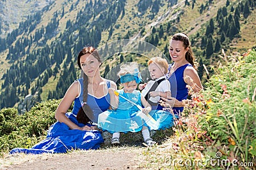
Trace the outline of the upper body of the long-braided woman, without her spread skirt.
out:
[[[56,119],[70,127],[90,131],[97,127],[98,115],[108,110],[110,97],[108,89],[117,89],[116,83],[100,76],[101,64],[99,53],[92,46],[85,47],[77,56],[77,64],[83,71],[83,78],[76,80],[70,85],[60,105],[56,110]],[[74,101],[72,113],[77,113],[79,123],[88,124],[79,127],[65,117],[65,113]],[[113,100],[112,100],[113,101]]]

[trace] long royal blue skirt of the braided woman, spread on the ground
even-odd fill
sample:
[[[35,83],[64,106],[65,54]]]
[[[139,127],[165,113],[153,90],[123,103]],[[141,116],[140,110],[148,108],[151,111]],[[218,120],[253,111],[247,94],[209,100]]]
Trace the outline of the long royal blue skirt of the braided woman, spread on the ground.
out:
[[[77,122],[76,116],[73,113],[66,113],[66,116],[79,127],[84,124]],[[99,131],[80,131],[77,129],[71,130],[66,124],[56,122],[51,125],[47,132],[46,139],[34,145],[32,148],[14,148],[10,151],[13,153],[66,153],[68,150],[89,150],[97,149],[100,143],[104,142]]]

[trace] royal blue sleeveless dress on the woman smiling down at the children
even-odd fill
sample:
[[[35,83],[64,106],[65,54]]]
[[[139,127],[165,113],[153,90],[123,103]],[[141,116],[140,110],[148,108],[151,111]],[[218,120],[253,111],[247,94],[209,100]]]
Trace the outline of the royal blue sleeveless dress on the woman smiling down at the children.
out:
[[[173,64],[170,64],[168,67],[168,73],[170,73],[171,67]],[[186,67],[193,67],[191,64],[185,64],[180,66],[174,71],[168,78],[171,84],[172,97],[175,97],[178,101],[182,101],[188,98],[188,88],[186,87],[187,83],[184,81],[184,70]],[[183,107],[173,107],[173,113],[180,117],[180,114],[183,111]]]

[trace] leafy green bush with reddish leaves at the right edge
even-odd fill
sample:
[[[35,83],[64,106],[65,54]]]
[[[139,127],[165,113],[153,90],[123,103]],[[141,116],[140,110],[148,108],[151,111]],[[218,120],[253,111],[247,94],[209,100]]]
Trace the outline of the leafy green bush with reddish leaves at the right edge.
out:
[[[211,102],[200,124],[228,149],[227,155],[252,161],[256,156],[256,52],[228,59],[227,66],[220,66],[206,84],[203,95]]]

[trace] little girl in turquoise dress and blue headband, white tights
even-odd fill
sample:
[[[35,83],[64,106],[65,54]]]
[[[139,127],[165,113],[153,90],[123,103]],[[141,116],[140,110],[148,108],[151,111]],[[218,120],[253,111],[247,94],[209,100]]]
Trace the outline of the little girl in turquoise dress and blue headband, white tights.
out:
[[[121,90],[109,89],[110,96],[116,97],[118,108],[100,113],[98,127],[103,131],[113,133],[111,140],[113,145],[120,144],[120,132],[139,131],[142,132],[143,139],[148,146],[154,145],[156,142],[150,138],[148,127],[145,126],[145,119],[143,119],[151,111],[151,106],[145,97],[141,96],[140,91],[136,90],[141,81],[138,63],[124,64],[120,67],[118,76],[124,88]],[[116,92],[118,96],[115,95]],[[116,106],[114,103],[111,101],[111,106]],[[144,108],[141,108],[141,104]]]

